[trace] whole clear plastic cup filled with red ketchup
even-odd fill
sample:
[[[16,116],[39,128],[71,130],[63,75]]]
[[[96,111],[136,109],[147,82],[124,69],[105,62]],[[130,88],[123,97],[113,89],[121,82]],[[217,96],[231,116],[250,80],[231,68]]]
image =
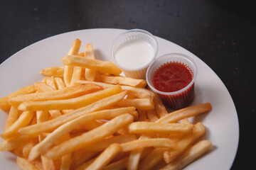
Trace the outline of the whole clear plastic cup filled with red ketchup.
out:
[[[146,81],[166,106],[180,109],[193,101],[196,74],[196,63],[191,57],[169,53],[149,65]]]

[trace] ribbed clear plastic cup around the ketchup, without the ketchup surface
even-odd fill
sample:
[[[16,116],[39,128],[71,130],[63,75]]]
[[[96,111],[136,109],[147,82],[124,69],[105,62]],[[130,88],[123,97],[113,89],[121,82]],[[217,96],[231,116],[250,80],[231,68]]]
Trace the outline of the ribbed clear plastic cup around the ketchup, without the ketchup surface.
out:
[[[153,86],[152,79],[153,79],[154,73],[162,65],[168,62],[181,63],[191,70],[192,80],[183,89],[180,89],[178,91],[172,91],[172,92],[164,92],[164,91],[157,90]],[[146,81],[150,89],[156,92],[157,94],[159,94],[159,97],[161,98],[161,100],[166,106],[168,106],[169,108],[180,109],[188,106],[193,101],[193,98],[195,96],[194,82],[196,79],[196,75],[197,75],[196,63],[191,59],[191,57],[188,57],[187,55],[183,55],[180,53],[169,53],[157,58],[156,60],[154,60],[154,62],[152,62],[149,65],[149,68],[147,69],[147,72],[146,72]]]

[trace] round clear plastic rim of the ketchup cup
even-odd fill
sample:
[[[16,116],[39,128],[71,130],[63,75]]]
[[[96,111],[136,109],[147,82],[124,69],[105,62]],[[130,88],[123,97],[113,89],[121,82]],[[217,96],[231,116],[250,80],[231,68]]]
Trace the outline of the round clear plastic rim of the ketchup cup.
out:
[[[178,55],[179,57],[186,59],[188,62],[191,62],[193,64],[193,67],[195,67],[195,71],[193,72],[193,79],[191,80],[191,82],[187,86],[183,87],[183,89],[180,89],[178,91],[172,91],[172,92],[159,91],[156,88],[154,88],[154,86],[151,84],[151,81],[149,81],[149,71],[151,70],[151,67],[153,67],[154,64],[156,64],[156,62],[158,62],[159,60],[161,60],[162,58],[168,55]],[[160,57],[157,57],[153,62],[151,62],[151,64],[149,65],[149,68],[146,71],[146,81],[150,89],[155,93],[165,95],[165,96],[172,96],[176,94],[181,94],[183,91],[186,91],[188,88],[190,88],[193,85],[194,81],[196,80],[197,71],[198,71],[198,68],[196,67],[196,62],[194,62],[191,57],[188,57],[188,55],[184,55],[182,53],[173,52],[173,53],[161,55]]]

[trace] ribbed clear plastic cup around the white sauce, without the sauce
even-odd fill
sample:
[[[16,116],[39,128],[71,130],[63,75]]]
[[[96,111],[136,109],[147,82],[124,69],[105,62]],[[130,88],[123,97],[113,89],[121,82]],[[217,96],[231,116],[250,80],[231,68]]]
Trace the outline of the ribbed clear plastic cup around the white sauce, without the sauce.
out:
[[[124,65],[117,62],[115,53],[117,52],[117,50],[119,50],[119,47],[122,47],[122,45],[125,45],[125,43],[136,41],[146,42],[152,48],[153,56],[149,56],[149,61],[146,64],[142,64],[141,66],[136,68],[127,69]],[[114,41],[112,42],[112,47],[110,49],[110,57],[112,59],[112,62],[114,62],[117,67],[122,69],[126,77],[132,77],[135,79],[146,79],[146,69],[149,67],[149,64],[151,64],[151,62],[156,58],[157,52],[158,43],[154,35],[146,30],[133,29],[125,31],[114,39]]]

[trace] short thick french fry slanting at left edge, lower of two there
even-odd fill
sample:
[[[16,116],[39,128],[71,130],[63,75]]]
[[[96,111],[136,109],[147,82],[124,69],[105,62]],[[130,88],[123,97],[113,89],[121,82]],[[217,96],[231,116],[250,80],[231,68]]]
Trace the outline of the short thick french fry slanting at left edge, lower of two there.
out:
[[[18,118],[18,120],[16,120],[16,122],[11,125],[8,130],[6,130],[1,135],[1,137],[4,140],[11,140],[12,138],[16,137],[18,135],[18,129],[28,125],[28,123],[30,123],[33,119],[34,115],[35,113],[32,111],[24,111],[21,113],[21,116]]]

